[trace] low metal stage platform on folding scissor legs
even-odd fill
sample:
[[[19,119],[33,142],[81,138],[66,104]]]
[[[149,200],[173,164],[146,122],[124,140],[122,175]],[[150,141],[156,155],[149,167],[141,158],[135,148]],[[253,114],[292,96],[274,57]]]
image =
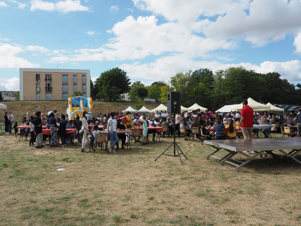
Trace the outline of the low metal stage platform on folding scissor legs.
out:
[[[237,166],[235,171],[239,171],[241,167],[248,164],[256,157],[263,155],[271,155],[278,160],[294,160],[301,164],[301,162],[296,159],[296,155],[301,152],[301,137],[290,137],[290,138],[268,138],[268,139],[250,139],[250,140],[205,140],[205,144],[208,144],[215,148],[216,150],[206,157],[208,160],[209,157],[219,159],[219,165],[223,165],[224,162]],[[226,150],[229,152],[222,158],[215,156],[220,150]],[[285,152],[284,150],[289,150]],[[245,154],[244,151],[256,152],[256,154]],[[275,154],[273,151],[279,151],[283,155]],[[236,154],[242,154],[248,159],[245,162],[240,162],[235,159],[231,159]],[[238,164],[235,164],[234,161]]]

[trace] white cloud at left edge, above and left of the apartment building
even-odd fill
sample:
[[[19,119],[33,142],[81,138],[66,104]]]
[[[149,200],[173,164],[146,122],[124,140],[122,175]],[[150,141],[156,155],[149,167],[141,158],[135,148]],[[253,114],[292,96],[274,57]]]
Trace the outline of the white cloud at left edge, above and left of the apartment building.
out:
[[[25,51],[23,46],[17,44],[0,43],[0,68],[38,67],[39,64],[17,56]]]

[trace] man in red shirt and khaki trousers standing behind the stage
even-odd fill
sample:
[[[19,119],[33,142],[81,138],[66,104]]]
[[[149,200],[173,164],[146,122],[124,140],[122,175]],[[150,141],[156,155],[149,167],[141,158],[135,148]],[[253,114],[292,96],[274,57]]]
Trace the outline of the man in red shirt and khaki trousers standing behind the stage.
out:
[[[243,102],[243,108],[241,109],[241,119],[238,125],[238,130],[241,129],[244,139],[253,139],[253,118],[254,118],[254,111],[253,108],[251,108],[248,105],[248,100],[244,99]],[[245,154],[250,154],[249,151],[244,152]],[[256,153],[253,152],[252,153]]]

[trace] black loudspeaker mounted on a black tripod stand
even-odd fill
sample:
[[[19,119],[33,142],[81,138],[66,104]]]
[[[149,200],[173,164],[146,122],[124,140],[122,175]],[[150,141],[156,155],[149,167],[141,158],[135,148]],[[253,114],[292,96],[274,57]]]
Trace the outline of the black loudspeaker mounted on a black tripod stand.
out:
[[[181,94],[180,94],[180,92],[169,92],[169,93],[167,93],[167,113],[173,113],[174,122],[175,122],[175,113],[180,113],[180,112],[181,112]],[[185,159],[187,159],[187,157],[184,155],[184,153],[182,152],[182,150],[180,149],[178,144],[175,142],[175,123],[173,124],[173,131],[174,131],[173,132],[173,142],[172,142],[171,145],[169,145],[169,147],[161,155],[179,157],[180,162],[183,165],[181,155],[183,155],[185,157]],[[171,146],[173,146],[173,155],[165,154],[165,152]],[[176,154],[176,152],[175,152],[176,150],[177,150],[178,154]],[[159,159],[161,155],[159,155],[159,157],[157,159]],[[155,159],[155,161],[157,159]]]

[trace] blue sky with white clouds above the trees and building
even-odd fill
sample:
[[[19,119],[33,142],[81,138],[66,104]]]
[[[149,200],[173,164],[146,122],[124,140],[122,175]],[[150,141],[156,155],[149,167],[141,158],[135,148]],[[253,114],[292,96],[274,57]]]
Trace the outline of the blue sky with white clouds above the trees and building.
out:
[[[131,81],[243,66],[301,83],[301,0],[0,0],[0,90],[19,68]],[[271,81],[272,84],[272,81]]]

